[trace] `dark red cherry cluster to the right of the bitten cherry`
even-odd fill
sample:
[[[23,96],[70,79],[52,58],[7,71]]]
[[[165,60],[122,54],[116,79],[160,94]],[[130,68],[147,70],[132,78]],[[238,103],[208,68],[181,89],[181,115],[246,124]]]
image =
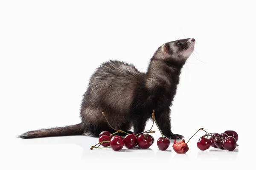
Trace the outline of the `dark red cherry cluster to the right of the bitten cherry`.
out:
[[[208,136],[211,136],[208,139]],[[205,138],[206,137],[206,138]],[[238,134],[234,130],[226,130],[224,133],[207,133],[199,138],[197,147],[200,150],[207,150],[210,146],[233,151],[236,149]]]

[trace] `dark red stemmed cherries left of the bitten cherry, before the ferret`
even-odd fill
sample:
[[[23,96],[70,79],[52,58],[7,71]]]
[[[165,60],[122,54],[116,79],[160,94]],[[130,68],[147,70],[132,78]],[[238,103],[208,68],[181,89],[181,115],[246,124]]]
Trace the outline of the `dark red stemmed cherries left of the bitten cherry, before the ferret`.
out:
[[[104,115],[104,112],[102,112],[102,114]],[[105,116],[105,119],[106,119],[106,116]],[[157,122],[154,117],[154,110],[152,113],[152,119],[153,119],[153,125],[154,125],[154,122],[157,125]],[[107,120],[107,122],[108,122],[108,120]],[[109,122],[108,122],[108,124],[109,124]],[[153,125],[152,125],[152,127],[153,127]],[[110,127],[111,127],[111,125],[110,125]],[[151,127],[151,129],[152,129],[152,127]],[[157,127],[158,127],[158,125],[157,125]],[[111,128],[113,128],[113,127],[111,127]],[[138,134],[134,134],[134,133],[129,134],[129,133],[126,133],[125,131],[116,130],[116,129],[114,129],[114,130],[116,130],[116,132],[112,133],[112,134],[109,131],[102,131],[99,134],[99,143],[98,144],[99,144],[99,146],[102,145],[103,147],[99,147],[99,146],[97,147],[98,144],[96,144],[96,145],[92,146],[90,149],[93,150],[93,148],[111,147],[112,150],[118,151],[118,150],[121,150],[124,146],[127,147],[128,149],[132,149],[133,147],[136,147],[136,146],[140,147],[141,149],[147,149],[152,144],[154,144],[154,137],[148,134],[148,133],[155,133],[155,131],[151,130],[151,129],[147,130],[145,132],[142,132],[142,133],[138,133]],[[159,129],[159,127],[158,127],[158,129]],[[127,135],[124,138],[122,138],[119,135],[115,135],[116,133],[126,133]],[[168,138],[166,138],[165,136],[163,136],[163,133],[161,132],[161,130],[160,130],[160,133],[161,133],[162,137],[160,137],[157,140],[157,146],[160,150],[166,150],[170,145],[170,140]]]

